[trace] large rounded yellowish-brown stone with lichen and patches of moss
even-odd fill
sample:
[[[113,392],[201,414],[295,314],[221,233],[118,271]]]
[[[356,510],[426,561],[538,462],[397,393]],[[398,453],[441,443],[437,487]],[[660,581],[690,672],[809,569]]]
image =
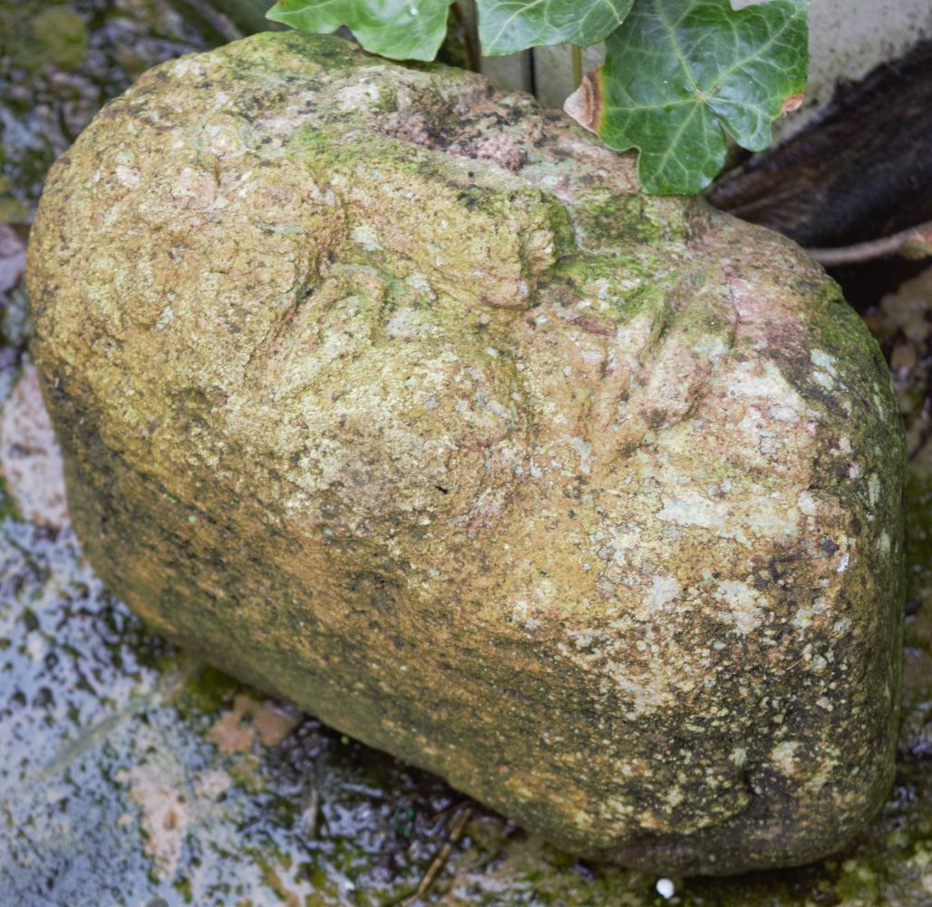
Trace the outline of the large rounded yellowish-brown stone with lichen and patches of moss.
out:
[[[27,276],[76,529],[173,639],[596,859],[798,863],[883,801],[901,432],[788,241],[265,34],[103,110]]]

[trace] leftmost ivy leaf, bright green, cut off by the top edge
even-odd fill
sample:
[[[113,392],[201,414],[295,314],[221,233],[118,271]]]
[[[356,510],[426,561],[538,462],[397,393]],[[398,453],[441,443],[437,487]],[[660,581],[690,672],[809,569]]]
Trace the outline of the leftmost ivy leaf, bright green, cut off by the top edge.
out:
[[[370,53],[390,60],[433,60],[446,36],[453,0],[278,0],[266,18],[301,32],[331,34],[346,25]]]

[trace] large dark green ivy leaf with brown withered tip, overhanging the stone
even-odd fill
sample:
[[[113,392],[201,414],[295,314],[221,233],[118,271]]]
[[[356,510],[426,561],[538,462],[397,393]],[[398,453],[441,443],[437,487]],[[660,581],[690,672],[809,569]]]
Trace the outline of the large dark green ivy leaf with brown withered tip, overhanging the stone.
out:
[[[692,195],[721,170],[726,130],[761,151],[799,105],[807,38],[804,0],[637,0],[566,110],[611,148],[639,150],[647,192]]]

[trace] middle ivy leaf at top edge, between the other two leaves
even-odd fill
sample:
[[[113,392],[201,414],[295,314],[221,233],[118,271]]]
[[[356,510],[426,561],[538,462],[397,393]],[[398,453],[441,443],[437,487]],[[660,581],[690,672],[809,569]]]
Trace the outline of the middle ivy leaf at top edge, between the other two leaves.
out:
[[[598,44],[634,0],[477,0],[479,41],[487,57],[547,44]]]

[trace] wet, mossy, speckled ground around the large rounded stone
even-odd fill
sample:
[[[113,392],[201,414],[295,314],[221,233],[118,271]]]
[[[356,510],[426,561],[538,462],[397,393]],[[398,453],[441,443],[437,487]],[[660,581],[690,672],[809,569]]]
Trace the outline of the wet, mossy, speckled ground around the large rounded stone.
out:
[[[932,904],[932,269],[866,316],[909,433],[906,671],[896,788],[836,858],[672,894],[583,863],[190,659],[106,593],[63,509],[23,243],[48,163],[97,107],[216,39],[188,12],[0,0],[0,905]]]

